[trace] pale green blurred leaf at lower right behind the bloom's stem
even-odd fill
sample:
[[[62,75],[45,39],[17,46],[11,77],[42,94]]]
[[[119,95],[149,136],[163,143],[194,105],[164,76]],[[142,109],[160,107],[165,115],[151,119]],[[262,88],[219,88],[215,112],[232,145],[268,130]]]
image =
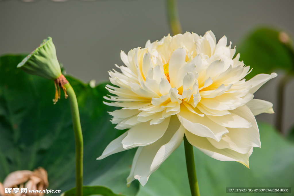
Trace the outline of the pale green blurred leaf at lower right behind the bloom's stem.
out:
[[[294,187],[294,144],[286,141],[271,125],[258,123],[258,127],[261,148],[254,148],[249,158],[250,169],[237,162],[213,159],[194,148],[201,195],[227,195],[226,187]],[[183,143],[150,176],[147,184],[140,186],[137,196],[161,195],[191,195]]]

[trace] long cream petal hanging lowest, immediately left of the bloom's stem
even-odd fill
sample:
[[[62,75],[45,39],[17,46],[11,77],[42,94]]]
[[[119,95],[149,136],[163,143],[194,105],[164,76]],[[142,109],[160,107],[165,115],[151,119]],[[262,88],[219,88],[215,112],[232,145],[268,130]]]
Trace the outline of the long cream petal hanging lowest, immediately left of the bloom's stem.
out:
[[[173,116],[166,133],[155,143],[144,146],[136,162],[134,177],[141,185],[145,185],[151,173],[155,172],[159,166],[176,150],[185,133],[185,128],[180,125],[176,116]]]

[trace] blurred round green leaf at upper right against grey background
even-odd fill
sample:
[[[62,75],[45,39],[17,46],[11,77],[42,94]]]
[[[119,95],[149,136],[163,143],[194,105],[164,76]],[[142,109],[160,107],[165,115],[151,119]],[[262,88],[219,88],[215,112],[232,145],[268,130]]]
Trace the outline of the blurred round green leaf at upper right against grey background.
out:
[[[268,28],[255,29],[236,47],[240,61],[253,68],[247,79],[259,73],[271,73],[276,69],[290,71],[294,66],[290,37],[281,41],[281,31]],[[282,40],[287,34],[282,34]],[[287,40],[287,38],[284,38]]]

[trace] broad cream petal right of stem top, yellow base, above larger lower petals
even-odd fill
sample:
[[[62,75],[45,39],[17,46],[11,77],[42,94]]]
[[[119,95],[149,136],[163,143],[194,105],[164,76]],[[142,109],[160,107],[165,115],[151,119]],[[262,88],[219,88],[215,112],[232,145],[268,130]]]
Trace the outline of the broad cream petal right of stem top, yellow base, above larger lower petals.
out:
[[[184,105],[181,105],[181,111],[177,114],[181,124],[191,133],[209,137],[219,141],[222,135],[228,133],[228,130],[209,120],[206,116],[199,116],[190,112]]]

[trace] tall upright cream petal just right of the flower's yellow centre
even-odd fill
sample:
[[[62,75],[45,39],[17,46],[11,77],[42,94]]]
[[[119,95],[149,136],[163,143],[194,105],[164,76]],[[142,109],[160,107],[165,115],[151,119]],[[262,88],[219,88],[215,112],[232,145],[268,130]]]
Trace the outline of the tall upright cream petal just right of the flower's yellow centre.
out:
[[[178,48],[173,51],[169,64],[168,64],[168,74],[170,78],[171,87],[176,87],[178,71],[184,65],[186,59],[186,50],[183,48]]]

